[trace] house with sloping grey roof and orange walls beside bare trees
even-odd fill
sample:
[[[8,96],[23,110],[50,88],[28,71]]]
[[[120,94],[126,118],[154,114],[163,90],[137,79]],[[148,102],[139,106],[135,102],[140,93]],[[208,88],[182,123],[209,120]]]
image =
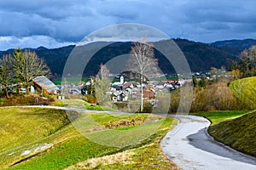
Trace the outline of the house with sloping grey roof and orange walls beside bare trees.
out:
[[[31,91],[35,92],[43,92],[44,94],[57,94],[59,88],[55,85],[55,83],[51,82],[47,77],[35,77],[32,78],[31,81],[33,85],[31,86]]]

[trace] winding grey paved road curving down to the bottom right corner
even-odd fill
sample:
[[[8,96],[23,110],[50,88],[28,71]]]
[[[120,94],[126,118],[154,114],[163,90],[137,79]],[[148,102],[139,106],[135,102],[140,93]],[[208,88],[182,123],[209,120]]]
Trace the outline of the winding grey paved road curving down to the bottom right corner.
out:
[[[255,170],[256,158],[216,142],[207,133],[210,122],[199,116],[176,116],[177,127],[166,134],[161,146],[166,156],[184,170]]]

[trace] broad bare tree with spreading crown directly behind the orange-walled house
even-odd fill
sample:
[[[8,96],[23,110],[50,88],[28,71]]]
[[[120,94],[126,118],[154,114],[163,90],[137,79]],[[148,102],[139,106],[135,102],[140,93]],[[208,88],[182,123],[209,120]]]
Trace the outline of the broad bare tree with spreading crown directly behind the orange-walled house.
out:
[[[16,80],[26,87],[26,92],[29,91],[31,78],[50,75],[44,59],[40,59],[34,51],[22,52],[20,48],[15,49],[14,71]]]

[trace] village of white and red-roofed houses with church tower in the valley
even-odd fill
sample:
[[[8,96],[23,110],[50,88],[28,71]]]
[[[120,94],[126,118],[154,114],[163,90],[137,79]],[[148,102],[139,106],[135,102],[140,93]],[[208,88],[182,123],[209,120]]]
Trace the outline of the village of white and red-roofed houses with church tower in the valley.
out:
[[[171,92],[182,87],[191,80],[163,80],[160,82],[143,82],[143,99],[154,99],[161,92]],[[47,77],[35,77],[30,86],[31,94],[56,94],[58,99],[65,99],[66,94],[87,95],[90,94],[89,88],[94,85],[93,79],[84,83],[70,83],[55,85]],[[125,102],[130,99],[141,99],[141,84],[139,82],[126,82],[123,76],[119,77],[119,82],[112,82],[109,88],[105,89],[106,96],[112,102]],[[19,88],[19,93],[26,93],[26,88]]]

